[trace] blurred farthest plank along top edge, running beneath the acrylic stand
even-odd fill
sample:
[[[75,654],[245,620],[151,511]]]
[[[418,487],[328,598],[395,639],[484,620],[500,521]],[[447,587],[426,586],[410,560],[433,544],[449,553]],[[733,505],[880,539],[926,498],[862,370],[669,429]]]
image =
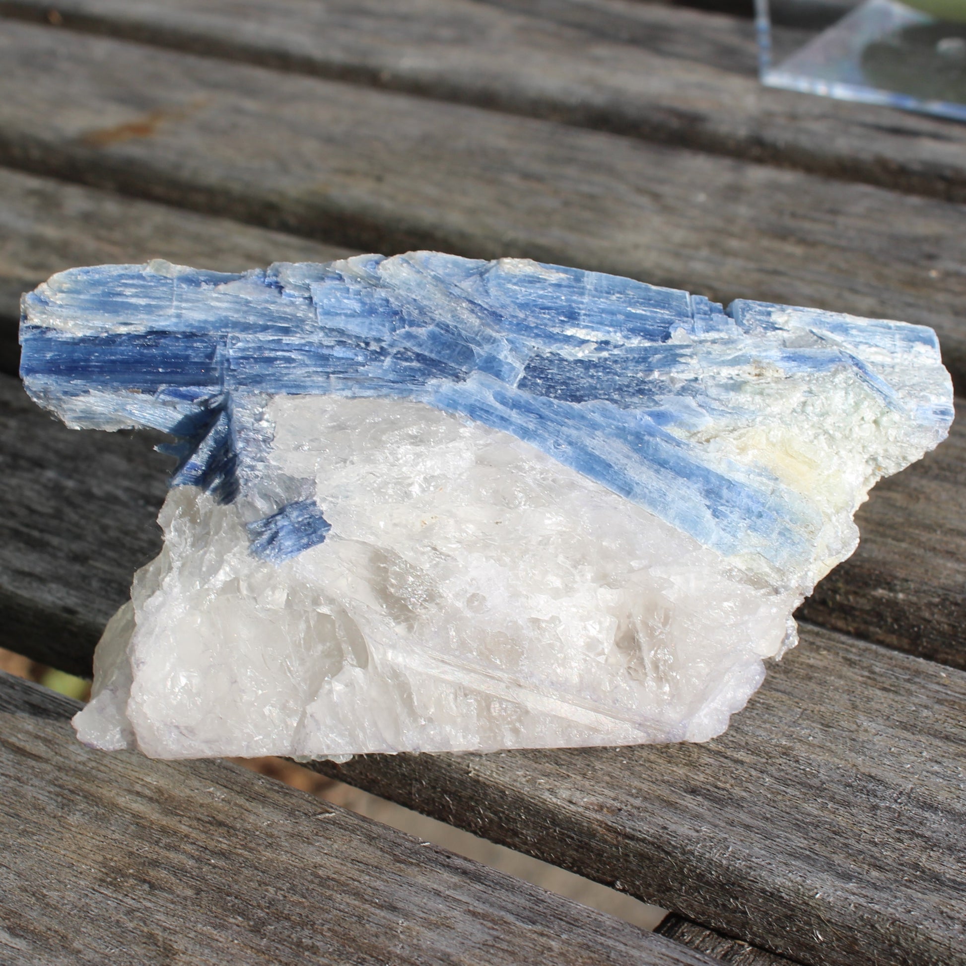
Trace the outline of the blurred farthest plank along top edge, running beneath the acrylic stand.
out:
[[[0,12],[44,20],[50,5],[3,0]],[[54,19],[966,200],[966,129],[763,88],[751,23],[733,17],[619,0],[63,0]]]

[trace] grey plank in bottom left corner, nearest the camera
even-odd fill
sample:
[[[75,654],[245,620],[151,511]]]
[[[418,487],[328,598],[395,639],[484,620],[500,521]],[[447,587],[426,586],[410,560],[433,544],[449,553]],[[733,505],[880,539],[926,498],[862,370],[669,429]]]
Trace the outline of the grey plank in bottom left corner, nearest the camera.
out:
[[[0,673],[0,960],[707,964],[227,762],[84,748]]]

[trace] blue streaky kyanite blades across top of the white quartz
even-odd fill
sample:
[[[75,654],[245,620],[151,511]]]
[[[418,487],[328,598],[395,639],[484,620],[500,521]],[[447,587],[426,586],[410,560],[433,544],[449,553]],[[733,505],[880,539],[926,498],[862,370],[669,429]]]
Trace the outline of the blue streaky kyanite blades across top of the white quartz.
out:
[[[830,373],[937,441],[952,419],[948,393],[901,374],[916,358],[939,364],[930,329],[749,301],[725,312],[686,292],[515,259],[75,269],[24,297],[20,337],[21,374],[42,405],[71,425],[175,434],[174,482],[222,501],[258,480],[270,440],[257,400],[405,398],[511,433],[703,545],[777,568],[810,557],[818,510],[762,466],[717,454],[703,425],[753,423],[761,385]],[[279,492],[275,512],[249,526],[253,552],[272,560],[328,530],[305,493]]]

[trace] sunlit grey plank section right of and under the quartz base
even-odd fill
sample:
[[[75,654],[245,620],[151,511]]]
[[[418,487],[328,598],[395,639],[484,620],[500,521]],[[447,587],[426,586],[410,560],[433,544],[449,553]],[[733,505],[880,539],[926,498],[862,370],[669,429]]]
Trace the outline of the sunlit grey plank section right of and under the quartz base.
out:
[[[953,966],[964,742],[966,673],[804,628],[706,745],[316,767],[797,961]]]

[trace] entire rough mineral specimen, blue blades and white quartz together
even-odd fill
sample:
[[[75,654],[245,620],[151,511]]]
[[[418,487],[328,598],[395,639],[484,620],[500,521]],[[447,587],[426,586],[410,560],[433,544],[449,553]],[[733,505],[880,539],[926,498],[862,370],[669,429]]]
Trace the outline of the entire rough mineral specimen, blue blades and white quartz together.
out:
[[[952,421],[928,328],[517,259],[103,266],[23,309],[40,405],[176,440],[75,719],[158,757],[706,740]]]

